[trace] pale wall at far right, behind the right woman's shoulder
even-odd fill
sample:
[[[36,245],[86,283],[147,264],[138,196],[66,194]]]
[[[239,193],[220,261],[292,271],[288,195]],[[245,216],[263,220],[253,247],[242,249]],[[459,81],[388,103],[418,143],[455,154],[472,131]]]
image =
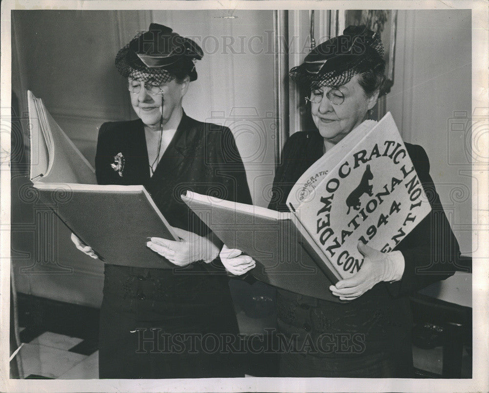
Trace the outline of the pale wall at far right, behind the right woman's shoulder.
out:
[[[472,251],[470,175],[470,10],[399,11],[394,86],[387,110],[406,142],[421,145],[430,174],[459,240]],[[484,54],[487,56],[487,54]],[[483,247],[475,239],[475,247]],[[471,305],[471,275],[458,273],[425,293]]]

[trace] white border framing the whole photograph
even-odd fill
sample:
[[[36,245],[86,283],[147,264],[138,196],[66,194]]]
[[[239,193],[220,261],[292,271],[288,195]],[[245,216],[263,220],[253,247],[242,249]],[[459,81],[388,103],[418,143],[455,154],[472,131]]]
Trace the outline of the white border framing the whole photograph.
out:
[[[0,332],[9,331],[10,173],[9,152],[11,90],[11,10],[13,9],[471,9],[472,10],[472,108],[488,108],[488,3],[485,0],[401,1],[2,1],[1,2],[1,176],[0,176]],[[480,119],[479,119],[480,121]],[[489,130],[487,119],[485,127]],[[480,124],[479,124],[480,127]],[[5,132],[4,132],[5,131]],[[488,132],[478,140],[489,150]],[[474,141],[472,141],[474,143]],[[489,171],[473,166],[473,220],[489,222]],[[489,244],[486,228],[474,229],[479,244]],[[9,342],[0,340],[0,391],[2,392],[487,392],[489,391],[489,263],[488,248],[474,254],[473,264],[473,377],[471,379],[348,379],[348,378],[238,378],[186,380],[18,380],[9,379]]]

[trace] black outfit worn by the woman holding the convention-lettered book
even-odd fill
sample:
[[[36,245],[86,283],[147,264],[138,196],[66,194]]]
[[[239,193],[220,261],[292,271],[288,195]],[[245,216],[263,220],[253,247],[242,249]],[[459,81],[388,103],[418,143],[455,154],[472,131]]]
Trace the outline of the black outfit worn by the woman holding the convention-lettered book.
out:
[[[452,275],[460,263],[460,250],[429,175],[426,153],[421,146],[406,143],[406,148],[432,212],[396,248],[405,260],[402,279],[379,283],[343,304],[278,289],[280,376],[412,376],[408,295]],[[288,211],[292,185],[322,154],[323,139],[317,131],[289,138],[275,175],[270,209]]]

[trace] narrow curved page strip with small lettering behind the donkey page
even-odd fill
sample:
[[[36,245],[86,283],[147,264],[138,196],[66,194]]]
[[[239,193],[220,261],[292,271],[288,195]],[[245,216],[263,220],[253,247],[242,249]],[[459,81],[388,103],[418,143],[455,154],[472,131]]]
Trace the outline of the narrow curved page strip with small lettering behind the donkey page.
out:
[[[351,146],[356,145],[376,124],[375,120],[365,120],[312,164],[290,190],[287,197],[289,209],[297,209],[328,174],[328,170],[333,168],[350,151]]]

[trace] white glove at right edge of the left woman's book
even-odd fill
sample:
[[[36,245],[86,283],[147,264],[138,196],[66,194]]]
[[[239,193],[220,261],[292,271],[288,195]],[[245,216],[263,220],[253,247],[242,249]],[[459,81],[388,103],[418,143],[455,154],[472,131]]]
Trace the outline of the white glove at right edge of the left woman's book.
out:
[[[173,229],[180,241],[151,238],[146,245],[177,266],[186,266],[196,261],[210,263],[219,255],[219,247],[207,237],[180,228]]]

